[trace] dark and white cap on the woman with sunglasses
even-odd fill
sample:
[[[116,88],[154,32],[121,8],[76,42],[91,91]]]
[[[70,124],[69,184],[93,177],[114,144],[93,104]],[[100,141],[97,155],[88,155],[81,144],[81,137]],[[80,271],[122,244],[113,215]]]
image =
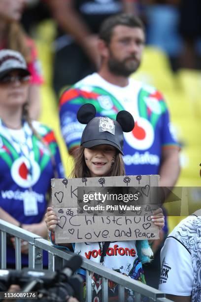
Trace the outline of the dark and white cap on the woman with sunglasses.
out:
[[[20,52],[10,49],[0,50],[0,78],[13,70],[19,70],[25,76],[30,75],[26,61]]]

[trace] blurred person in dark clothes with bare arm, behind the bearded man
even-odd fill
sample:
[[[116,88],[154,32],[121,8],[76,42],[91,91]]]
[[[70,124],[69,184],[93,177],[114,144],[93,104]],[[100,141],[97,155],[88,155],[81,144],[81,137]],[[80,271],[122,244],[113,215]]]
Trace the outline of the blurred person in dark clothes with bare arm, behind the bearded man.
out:
[[[134,12],[135,0],[47,0],[58,23],[55,41],[56,93],[100,66],[97,48],[101,22],[122,11]]]

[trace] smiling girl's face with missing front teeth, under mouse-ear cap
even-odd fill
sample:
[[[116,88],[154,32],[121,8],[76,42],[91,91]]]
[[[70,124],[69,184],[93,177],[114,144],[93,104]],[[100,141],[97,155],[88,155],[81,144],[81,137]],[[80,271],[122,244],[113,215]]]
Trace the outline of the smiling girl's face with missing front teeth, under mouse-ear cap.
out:
[[[110,145],[99,145],[84,149],[84,157],[91,177],[106,176],[115,160],[116,149]]]

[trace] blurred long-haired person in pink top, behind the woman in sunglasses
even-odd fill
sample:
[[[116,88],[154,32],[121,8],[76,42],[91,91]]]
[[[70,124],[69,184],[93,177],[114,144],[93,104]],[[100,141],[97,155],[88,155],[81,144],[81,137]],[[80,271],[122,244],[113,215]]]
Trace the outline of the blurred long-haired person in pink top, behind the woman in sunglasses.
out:
[[[40,113],[40,85],[43,82],[35,44],[23,31],[19,20],[25,0],[0,0],[0,49],[21,52],[32,75],[29,88],[29,113],[37,119]]]

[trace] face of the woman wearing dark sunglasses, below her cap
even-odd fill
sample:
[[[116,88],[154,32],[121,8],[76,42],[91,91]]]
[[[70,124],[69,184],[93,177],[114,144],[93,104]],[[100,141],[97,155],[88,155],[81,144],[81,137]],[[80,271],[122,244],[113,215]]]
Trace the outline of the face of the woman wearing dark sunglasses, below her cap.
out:
[[[28,99],[29,76],[12,71],[0,79],[0,106],[23,106]]]

